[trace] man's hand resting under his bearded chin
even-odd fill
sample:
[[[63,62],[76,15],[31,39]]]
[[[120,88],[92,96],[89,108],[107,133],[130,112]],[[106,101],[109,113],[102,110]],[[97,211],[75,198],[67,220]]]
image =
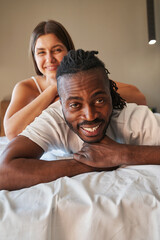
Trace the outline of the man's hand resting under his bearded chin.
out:
[[[123,164],[123,144],[105,136],[99,143],[84,143],[81,151],[74,154],[74,159],[97,168],[110,168]]]

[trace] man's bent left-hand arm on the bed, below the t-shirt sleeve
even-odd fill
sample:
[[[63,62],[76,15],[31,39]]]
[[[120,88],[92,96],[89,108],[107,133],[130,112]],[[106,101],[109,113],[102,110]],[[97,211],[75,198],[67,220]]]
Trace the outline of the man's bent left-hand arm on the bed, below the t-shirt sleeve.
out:
[[[0,159],[0,190],[16,190],[63,176],[96,171],[74,159],[39,160],[43,152],[40,146],[24,136],[12,140]]]

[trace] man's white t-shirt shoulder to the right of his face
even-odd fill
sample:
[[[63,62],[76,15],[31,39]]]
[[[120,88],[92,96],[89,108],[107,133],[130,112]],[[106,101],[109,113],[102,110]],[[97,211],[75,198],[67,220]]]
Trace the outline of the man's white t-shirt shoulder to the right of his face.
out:
[[[115,140],[129,144],[157,144],[160,131],[159,117],[145,105],[129,103],[123,110],[114,110],[108,133]]]

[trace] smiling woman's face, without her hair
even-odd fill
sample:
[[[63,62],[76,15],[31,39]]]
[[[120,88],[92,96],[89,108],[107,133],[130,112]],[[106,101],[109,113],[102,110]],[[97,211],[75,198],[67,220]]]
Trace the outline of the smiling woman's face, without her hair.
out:
[[[40,36],[35,45],[35,61],[40,72],[47,78],[56,78],[57,68],[67,48],[53,33]]]

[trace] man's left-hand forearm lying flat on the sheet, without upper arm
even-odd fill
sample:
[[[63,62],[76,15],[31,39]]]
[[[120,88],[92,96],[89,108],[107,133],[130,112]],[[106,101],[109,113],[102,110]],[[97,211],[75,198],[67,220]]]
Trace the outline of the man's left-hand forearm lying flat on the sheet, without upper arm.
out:
[[[94,171],[94,168],[72,159],[59,161],[14,159],[0,167],[0,190],[21,189],[63,176],[72,177],[91,171]]]

